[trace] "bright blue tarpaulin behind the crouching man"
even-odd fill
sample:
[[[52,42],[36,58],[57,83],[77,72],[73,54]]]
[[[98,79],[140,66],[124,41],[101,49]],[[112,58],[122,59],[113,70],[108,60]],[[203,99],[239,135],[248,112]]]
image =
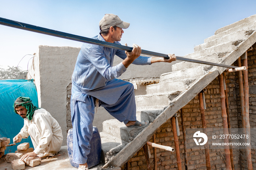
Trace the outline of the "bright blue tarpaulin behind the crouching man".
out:
[[[30,97],[32,103],[38,107],[37,90],[33,80],[0,80],[0,138],[13,138],[20,132],[24,125],[24,120],[14,112],[13,104],[18,97]],[[22,139],[20,143],[29,142],[33,147],[30,137]],[[17,146],[8,146],[5,154],[15,152]]]

